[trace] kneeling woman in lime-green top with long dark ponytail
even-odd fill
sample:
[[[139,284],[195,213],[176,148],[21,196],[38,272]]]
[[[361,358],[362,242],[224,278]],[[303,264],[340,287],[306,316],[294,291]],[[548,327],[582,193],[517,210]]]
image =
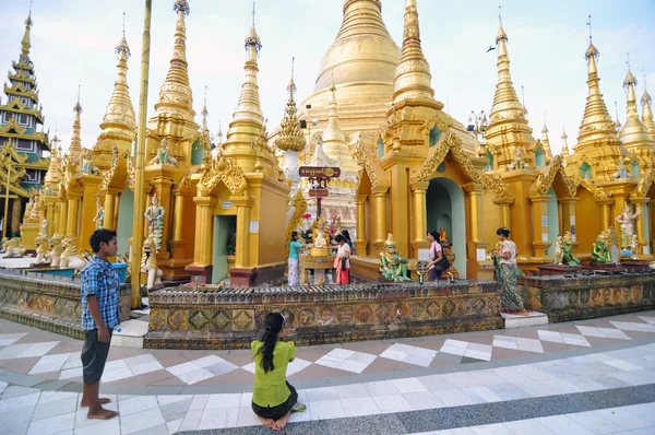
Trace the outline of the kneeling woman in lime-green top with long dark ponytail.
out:
[[[264,426],[274,431],[286,426],[291,412],[307,409],[298,403],[298,392],[286,380],[286,369],[296,357],[296,346],[293,341],[282,341],[284,324],[282,314],[270,313],[264,320],[264,336],[250,345],[254,358],[252,410]]]

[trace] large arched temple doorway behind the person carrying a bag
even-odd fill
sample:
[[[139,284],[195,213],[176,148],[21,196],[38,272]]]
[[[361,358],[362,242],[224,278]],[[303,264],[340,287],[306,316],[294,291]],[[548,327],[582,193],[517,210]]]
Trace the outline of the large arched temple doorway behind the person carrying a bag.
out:
[[[426,195],[428,231],[448,232],[455,255],[454,267],[461,279],[466,278],[466,213],[462,189],[445,177],[432,178]]]

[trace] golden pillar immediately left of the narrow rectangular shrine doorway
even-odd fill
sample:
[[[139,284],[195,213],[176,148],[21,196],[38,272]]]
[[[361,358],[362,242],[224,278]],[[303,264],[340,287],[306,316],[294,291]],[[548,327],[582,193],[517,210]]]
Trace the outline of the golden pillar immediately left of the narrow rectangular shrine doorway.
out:
[[[214,245],[214,209],[218,200],[214,197],[194,197],[195,202],[195,245],[193,262],[187,266],[187,271],[199,284],[212,280],[212,247]]]

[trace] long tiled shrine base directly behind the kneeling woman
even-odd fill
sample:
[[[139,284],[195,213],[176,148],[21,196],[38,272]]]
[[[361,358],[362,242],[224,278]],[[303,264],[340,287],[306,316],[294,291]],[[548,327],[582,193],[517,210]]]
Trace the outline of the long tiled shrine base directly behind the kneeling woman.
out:
[[[150,294],[146,349],[243,349],[271,311],[298,345],[500,329],[500,285],[354,284],[305,287],[160,290]]]

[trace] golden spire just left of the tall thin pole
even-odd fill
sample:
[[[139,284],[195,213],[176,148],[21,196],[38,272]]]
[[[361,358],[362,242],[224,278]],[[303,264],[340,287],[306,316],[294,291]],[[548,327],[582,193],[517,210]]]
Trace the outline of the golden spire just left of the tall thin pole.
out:
[[[128,148],[134,141],[136,132],[136,115],[130,98],[130,87],[128,86],[128,59],[130,57],[130,46],[126,39],[124,13],[123,13],[123,32],[122,37],[116,46],[116,55],[118,63],[118,77],[114,83],[114,93],[109,98],[105,116],[100,124],[100,136],[98,143],[105,139],[119,140],[128,144]],[[124,151],[121,149],[121,151]]]

